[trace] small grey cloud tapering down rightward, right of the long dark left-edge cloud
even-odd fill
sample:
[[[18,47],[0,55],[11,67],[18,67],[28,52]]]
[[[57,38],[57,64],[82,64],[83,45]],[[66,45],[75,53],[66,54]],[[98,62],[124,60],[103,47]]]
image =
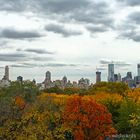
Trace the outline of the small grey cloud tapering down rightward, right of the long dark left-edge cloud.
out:
[[[56,24],[46,25],[45,30],[47,30],[49,32],[54,32],[54,33],[57,33],[57,34],[61,34],[64,37],[76,36],[76,35],[81,35],[82,34],[82,32],[80,32],[80,31],[74,31],[74,30],[66,29],[64,26],[56,25]]]

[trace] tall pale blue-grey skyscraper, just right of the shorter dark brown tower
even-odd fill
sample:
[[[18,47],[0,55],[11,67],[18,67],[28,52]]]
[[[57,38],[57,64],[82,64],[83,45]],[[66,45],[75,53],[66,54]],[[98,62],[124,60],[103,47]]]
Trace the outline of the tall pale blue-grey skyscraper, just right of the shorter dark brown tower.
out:
[[[108,64],[108,82],[114,82],[114,64]]]

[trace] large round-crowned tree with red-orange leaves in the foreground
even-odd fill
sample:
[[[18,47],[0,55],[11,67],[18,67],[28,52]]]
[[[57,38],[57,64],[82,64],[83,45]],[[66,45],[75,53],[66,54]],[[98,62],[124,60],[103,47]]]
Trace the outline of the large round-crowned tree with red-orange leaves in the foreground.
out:
[[[106,136],[116,134],[111,114],[92,97],[69,97],[63,119],[65,126],[72,129],[76,140],[103,140]]]

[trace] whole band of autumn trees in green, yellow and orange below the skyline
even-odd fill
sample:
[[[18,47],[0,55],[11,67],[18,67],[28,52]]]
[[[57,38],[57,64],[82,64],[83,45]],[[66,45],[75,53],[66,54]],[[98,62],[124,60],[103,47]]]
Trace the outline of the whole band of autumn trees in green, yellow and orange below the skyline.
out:
[[[139,140],[139,132],[140,89],[124,83],[39,91],[25,81],[0,89],[0,140]]]

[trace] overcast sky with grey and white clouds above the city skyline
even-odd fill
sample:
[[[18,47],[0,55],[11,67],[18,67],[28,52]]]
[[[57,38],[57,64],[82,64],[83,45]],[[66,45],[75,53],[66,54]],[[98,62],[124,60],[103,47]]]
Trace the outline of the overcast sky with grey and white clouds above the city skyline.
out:
[[[140,63],[140,0],[0,0],[0,79],[44,80],[64,75],[95,81],[115,72],[137,75]]]

